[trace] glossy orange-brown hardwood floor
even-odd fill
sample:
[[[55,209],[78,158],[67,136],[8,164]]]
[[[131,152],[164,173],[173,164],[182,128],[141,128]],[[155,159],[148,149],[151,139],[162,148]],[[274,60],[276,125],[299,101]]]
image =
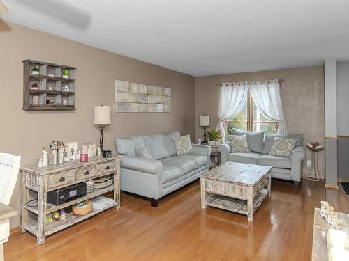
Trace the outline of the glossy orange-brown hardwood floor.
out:
[[[246,216],[200,208],[200,182],[151,207],[150,201],[121,194],[110,209],[47,237],[42,246],[29,232],[4,245],[5,260],[311,260],[313,209],[320,200],[349,211],[339,191],[324,183],[272,181],[272,196]]]

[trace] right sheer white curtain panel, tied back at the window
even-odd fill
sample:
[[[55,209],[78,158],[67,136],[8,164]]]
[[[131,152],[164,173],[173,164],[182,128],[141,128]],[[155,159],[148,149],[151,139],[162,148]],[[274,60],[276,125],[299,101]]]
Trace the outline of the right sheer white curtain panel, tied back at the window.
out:
[[[253,102],[265,116],[265,118],[279,122],[277,134],[287,134],[287,124],[283,102],[281,98],[280,84],[275,81],[248,82],[248,90],[251,93]]]

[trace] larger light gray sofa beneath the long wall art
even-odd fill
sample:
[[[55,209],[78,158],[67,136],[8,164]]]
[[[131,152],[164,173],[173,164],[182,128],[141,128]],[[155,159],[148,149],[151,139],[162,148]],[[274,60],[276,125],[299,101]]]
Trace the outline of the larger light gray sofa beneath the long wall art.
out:
[[[193,154],[177,156],[173,138],[179,132],[117,138],[121,159],[121,190],[151,198],[156,207],[158,199],[193,182],[209,170],[211,147],[193,145]],[[138,157],[135,144],[144,145],[152,159]]]

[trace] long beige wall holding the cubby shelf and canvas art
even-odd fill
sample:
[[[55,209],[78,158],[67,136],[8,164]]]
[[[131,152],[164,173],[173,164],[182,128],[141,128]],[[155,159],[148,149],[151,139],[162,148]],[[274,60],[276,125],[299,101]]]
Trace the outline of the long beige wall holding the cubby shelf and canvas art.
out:
[[[115,151],[116,136],[174,129],[195,136],[194,77],[1,20],[0,53],[0,151],[22,155],[22,164],[35,164],[52,140],[98,141],[92,108],[112,106],[115,79],[172,88],[172,112],[112,113],[104,148]],[[22,60],[28,58],[77,67],[76,111],[22,111]],[[19,191],[17,184],[10,203],[16,209]]]

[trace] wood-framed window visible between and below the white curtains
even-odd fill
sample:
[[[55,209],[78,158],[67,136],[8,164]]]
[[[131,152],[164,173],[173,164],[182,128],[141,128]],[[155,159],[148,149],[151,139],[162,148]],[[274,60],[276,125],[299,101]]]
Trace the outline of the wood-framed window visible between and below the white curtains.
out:
[[[255,106],[250,93],[248,93],[244,106],[238,115],[224,122],[225,133],[228,135],[231,135],[232,128],[275,134],[278,126],[279,122],[270,121],[262,115]]]

